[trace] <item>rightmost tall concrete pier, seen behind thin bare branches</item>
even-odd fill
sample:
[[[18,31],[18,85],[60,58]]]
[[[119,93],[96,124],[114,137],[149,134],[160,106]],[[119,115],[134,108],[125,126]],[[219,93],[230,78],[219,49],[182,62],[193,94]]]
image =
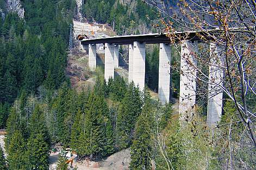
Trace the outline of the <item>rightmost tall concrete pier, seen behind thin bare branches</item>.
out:
[[[223,84],[223,64],[218,47],[210,43],[210,66],[208,84],[207,124],[215,126],[221,120],[223,92],[220,86]]]

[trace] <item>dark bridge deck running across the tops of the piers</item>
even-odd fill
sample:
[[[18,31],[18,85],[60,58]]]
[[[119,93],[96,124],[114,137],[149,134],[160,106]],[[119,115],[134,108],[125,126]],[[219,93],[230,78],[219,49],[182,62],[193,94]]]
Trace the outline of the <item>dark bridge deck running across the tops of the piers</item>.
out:
[[[189,34],[188,34],[189,33]],[[178,37],[188,36],[190,40],[198,40],[196,32],[177,32]],[[145,42],[146,44],[170,43],[166,34],[142,34],[142,35],[126,35],[114,36],[104,38],[93,38],[82,40],[83,45],[86,44],[101,44],[101,43],[115,43],[115,44],[133,44],[133,42]]]

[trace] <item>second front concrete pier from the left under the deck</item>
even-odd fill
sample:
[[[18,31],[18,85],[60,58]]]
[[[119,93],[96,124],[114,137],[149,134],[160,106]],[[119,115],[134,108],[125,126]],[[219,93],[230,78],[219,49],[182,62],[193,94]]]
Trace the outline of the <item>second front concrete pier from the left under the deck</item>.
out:
[[[105,73],[104,78],[108,82],[109,78],[114,79],[114,44],[105,43]]]

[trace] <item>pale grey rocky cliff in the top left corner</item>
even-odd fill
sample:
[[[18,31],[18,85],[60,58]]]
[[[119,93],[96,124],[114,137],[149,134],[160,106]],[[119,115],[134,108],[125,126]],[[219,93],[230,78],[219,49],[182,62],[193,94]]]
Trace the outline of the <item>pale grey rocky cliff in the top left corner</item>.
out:
[[[24,9],[22,8],[20,0],[5,1],[5,8],[7,12],[17,12],[19,17],[24,18]],[[0,13],[1,13],[1,9],[0,9]],[[2,9],[2,13],[3,13],[3,9]]]

